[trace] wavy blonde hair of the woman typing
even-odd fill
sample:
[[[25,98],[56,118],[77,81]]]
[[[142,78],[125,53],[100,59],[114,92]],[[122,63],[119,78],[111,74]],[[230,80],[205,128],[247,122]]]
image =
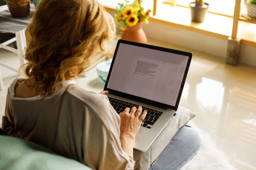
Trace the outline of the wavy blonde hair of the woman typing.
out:
[[[63,90],[115,36],[113,17],[96,0],[41,0],[26,29],[25,85],[45,97]]]

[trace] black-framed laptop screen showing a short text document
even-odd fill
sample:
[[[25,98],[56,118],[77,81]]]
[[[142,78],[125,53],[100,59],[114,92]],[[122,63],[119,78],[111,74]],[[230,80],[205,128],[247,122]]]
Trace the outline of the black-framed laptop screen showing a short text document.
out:
[[[192,53],[119,40],[105,90],[174,108],[180,101],[191,58]]]

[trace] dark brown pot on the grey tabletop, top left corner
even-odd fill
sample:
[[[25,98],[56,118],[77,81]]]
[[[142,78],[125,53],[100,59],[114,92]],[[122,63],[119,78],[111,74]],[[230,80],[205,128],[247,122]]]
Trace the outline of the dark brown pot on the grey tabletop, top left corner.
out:
[[[12,17],[26,17],[30,14],[30,0],[6,0]]]

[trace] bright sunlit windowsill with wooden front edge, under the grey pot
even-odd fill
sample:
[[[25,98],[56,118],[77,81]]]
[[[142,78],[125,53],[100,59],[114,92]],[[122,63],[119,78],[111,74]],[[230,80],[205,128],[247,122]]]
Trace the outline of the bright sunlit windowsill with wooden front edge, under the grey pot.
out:
[[[101,4],[110,12],[116,12],[116,5],[105,0],[100,0]],[[153,8],[153,7],[152,7]],[[157,4],[155,16],[150,16],[149,22],[157,22],[173,27],[191,30],[222,39],[228,39],[232,34],[233,18],[207,13],[204,22],[191,22],[190,10],[185,7],[171,6],[162,3]],[[240,43],[256,47],[256,24],[239,21],[238,39]]]

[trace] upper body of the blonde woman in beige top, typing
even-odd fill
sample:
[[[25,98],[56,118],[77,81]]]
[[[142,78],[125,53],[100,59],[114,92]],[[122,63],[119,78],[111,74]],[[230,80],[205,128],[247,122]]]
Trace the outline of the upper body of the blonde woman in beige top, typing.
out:
[[[147,111],[139,106],[118,115],[107,91],[95,94],[75,81],[115,33],[96,0],[41,0],[26,30],[26,79],[9,87],[3,129],[92,169],[134,169],[135,135]],[[188,160],[182,162],[177,167]]]

